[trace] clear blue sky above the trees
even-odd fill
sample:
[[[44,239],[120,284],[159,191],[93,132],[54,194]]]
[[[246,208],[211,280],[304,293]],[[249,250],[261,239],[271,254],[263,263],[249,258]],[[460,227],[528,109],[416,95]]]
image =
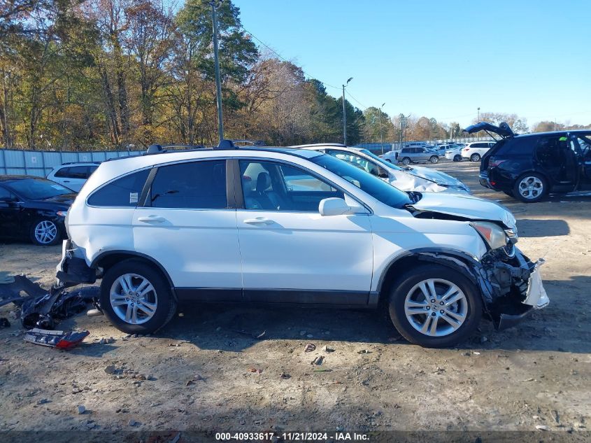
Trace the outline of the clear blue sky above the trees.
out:
[[[390,115],[591,123],[591,1],[234,0],[245,29]],[[334,96],[339,89],[327,86]],[[363,108],[348,97],[355,106]]]

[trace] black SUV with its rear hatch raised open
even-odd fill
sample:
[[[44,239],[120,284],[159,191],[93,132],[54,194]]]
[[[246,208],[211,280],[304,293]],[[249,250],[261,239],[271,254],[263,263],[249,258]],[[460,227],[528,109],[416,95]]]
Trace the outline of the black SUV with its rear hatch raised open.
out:
[[[515,135],[506,123],[480,122],[464,131],[502,137],[480,162],[486,188],[528,203],[548,192],[591,190],[591,129]]]

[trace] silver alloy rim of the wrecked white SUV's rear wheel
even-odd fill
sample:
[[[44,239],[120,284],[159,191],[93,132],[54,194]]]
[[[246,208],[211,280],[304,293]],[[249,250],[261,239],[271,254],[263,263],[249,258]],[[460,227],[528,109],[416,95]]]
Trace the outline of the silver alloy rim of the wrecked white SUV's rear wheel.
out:
[[[158,297],[152,283],[138,274],[123,274],[110,290],[113,311],[122,321],[141,325],[156,313]]]

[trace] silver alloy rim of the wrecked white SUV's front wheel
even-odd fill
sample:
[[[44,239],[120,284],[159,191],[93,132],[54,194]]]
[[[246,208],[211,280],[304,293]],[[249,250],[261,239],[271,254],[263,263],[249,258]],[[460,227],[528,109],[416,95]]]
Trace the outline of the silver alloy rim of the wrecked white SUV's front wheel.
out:
[[[444,279],[426,279],[408,291],[404,300],[406,320],[429,337],[445,337],[464,324],[468,315],[466,295]]]

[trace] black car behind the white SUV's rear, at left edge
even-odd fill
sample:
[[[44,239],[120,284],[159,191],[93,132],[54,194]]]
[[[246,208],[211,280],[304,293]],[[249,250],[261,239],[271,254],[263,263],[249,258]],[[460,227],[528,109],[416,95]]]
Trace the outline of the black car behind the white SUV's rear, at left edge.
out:
[[[66,236],[64,220],[76,194],[45,178],[0,176],[0,237],[58,244]]]

